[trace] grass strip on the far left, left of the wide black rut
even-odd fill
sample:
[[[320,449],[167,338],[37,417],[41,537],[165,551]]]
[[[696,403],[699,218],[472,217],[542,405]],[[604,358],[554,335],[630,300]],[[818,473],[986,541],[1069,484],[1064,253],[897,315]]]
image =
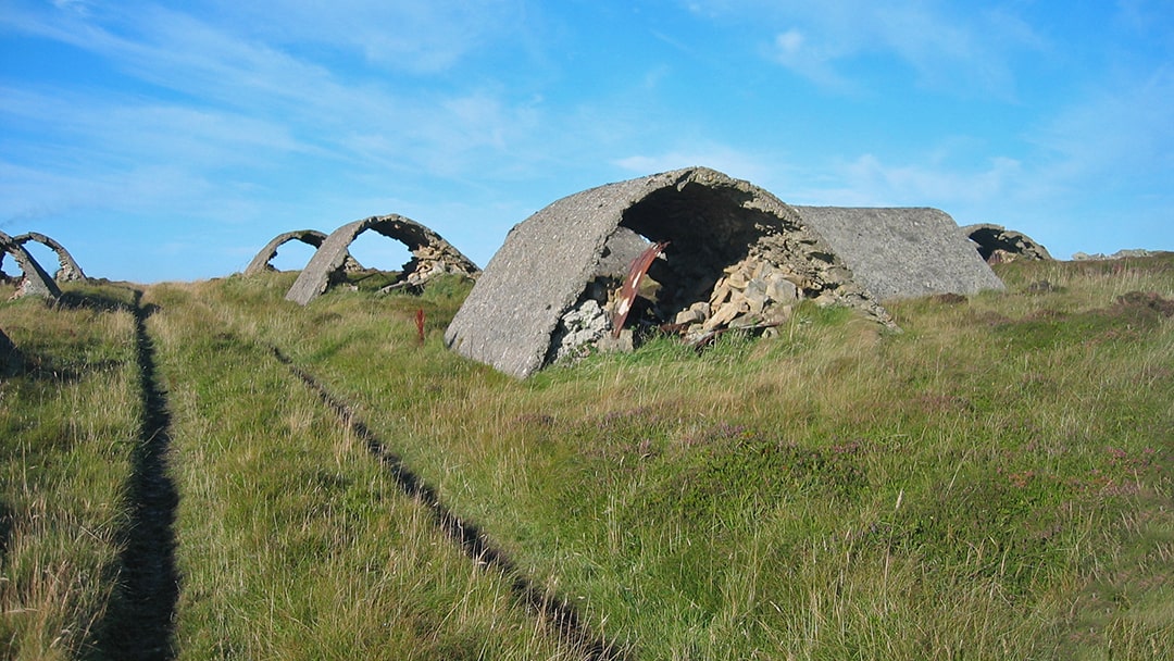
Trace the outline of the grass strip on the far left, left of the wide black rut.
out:
[[[117,578],[141,417],[119,289],[0,304],[22,365],[0,382],[0,656],[88,653]]]

